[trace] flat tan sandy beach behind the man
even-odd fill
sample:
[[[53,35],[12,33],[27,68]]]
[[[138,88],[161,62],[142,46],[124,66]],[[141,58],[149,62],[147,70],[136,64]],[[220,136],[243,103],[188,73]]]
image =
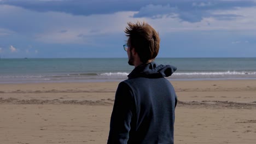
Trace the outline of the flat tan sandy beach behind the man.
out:
[[[0,143],[106,143],[118,83],[0,84]],[[256,80],[172,84],[175,143],[256,142]]]

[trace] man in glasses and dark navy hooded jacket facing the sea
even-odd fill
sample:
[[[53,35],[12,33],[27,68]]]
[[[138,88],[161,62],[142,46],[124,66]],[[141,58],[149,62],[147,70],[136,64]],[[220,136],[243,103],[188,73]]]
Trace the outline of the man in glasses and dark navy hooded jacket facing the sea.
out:
[[[158,65],[160,38],[148,23],[128,23],[125,51],[135,69],[120,82],[110,120],[108,143],[173,143],[177,97],[164,77],[176,70]]]

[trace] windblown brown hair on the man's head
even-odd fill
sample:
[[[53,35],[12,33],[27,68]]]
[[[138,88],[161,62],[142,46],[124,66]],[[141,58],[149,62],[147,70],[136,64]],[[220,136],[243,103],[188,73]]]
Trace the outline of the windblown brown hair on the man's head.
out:
[[[155,29],[146,22],[127,23],[127,45],[135,49],[142,63],[147,63],[158,55],[160,38]]]

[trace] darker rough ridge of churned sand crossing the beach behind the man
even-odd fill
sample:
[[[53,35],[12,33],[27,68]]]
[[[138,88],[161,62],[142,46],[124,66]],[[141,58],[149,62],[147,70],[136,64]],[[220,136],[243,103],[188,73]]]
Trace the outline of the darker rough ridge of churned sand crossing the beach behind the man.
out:
[[[73,105],[113,105],[114,99],[101,100],[40,100],[0,98],[0,104],[73,104]],[[256,103],[237,103],[233,101],[203,100],[178,101],[177,107],[206,108],[206,109],[256,109]]]

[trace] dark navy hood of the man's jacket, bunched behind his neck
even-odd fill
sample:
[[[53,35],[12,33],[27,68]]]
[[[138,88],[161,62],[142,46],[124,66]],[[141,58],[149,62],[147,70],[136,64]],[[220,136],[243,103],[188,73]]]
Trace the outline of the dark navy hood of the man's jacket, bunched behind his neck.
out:
[[[129,79],[136,77],[159,78],[171,76],[177,68],[172,65],[158,65],[155,62],[142,64],[132,70],[128,75]]]

